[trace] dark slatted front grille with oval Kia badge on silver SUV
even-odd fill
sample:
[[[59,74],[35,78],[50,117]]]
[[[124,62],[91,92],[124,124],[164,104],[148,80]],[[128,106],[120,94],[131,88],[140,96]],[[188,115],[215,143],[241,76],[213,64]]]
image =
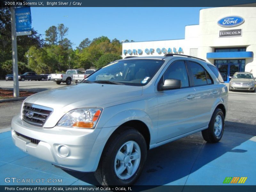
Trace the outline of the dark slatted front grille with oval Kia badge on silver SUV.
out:
[[[52,108],[24,103],[22,108],[22,120],[28,124],[42,127],[52,111]]]

